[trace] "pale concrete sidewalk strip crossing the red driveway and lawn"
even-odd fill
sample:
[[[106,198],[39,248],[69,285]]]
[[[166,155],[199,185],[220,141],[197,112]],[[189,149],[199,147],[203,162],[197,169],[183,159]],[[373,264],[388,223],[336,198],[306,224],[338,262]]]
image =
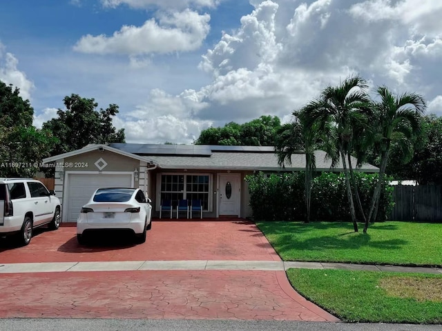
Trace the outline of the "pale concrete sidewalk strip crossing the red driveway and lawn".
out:
[[[140,270],[258,270],[285,271],[290,268],[345,269],[378,272],[419,272],[442,274],[442,268],[403,267],[398,265],[367,265],[352,263],[285,262],[285,261],[95,261],[3,263],[0,274],[26,272],[85,272],[85,271],[140,271]]]

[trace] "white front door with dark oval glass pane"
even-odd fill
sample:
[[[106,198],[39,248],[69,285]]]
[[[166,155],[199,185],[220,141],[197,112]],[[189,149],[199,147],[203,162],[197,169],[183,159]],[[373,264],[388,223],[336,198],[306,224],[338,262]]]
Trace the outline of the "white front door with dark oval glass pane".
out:
[[[240,216],[240,174],[218,177],[218,214]]]

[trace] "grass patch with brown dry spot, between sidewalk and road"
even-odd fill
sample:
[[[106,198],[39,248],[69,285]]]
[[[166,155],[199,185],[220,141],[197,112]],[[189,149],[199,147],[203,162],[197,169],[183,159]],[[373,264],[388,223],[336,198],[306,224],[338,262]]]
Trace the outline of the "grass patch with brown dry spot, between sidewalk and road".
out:
[[[289,269],[287,276],[300,294],[343,321],[442,323],[439,275]]]

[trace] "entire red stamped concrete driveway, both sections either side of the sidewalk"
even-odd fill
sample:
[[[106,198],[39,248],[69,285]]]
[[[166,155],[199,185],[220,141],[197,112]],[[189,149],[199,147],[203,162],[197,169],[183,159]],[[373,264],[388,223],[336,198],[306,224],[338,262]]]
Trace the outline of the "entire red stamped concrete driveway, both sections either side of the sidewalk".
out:
[[[75,228],[41,232],[3,263],[280,261],[253,223],[156,221],[142,245],[79,246]],[[284,271],[134,270],[3,273],[0,317],[338,321],[291,288]]]

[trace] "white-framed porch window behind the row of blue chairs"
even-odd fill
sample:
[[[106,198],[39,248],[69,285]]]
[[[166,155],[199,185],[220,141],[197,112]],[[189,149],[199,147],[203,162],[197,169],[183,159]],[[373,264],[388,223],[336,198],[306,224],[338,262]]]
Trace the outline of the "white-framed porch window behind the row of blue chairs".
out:
[[[171,200],[176,206],[178,200],[200,199],[204,211],[209,211],[209,174],[162,174],[161,200]]]

